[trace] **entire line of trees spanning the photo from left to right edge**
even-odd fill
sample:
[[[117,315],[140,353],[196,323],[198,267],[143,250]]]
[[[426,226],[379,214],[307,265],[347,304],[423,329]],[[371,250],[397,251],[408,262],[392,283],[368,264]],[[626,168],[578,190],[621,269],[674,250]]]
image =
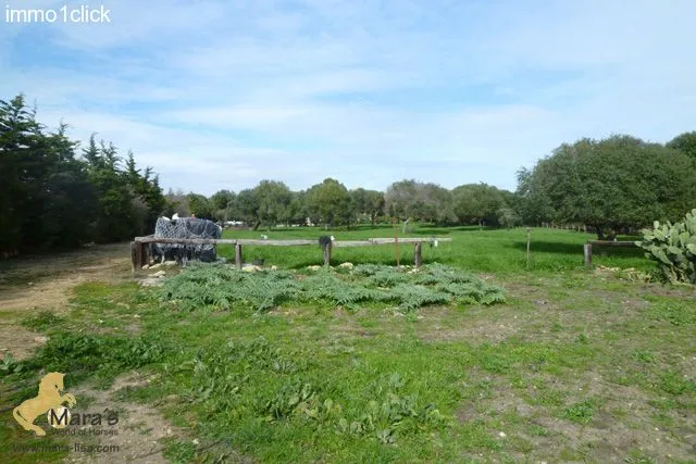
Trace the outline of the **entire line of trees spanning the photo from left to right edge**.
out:
[[[1,255],[127,240],[151,234],[160,215],[174,213],[253,228],[308,218],[327,227],[395,218],[405,227],[555,223],[589,226],[610,239],[696,208],[696,131],[664,145],[626,135],[563,143],[521,168],[515,191],[483,183],[447,189],[415,179],[384,191],[349,190],[326,178],[300,191],[266,179],[206,197],[171,189],[163,195],[159,177],[151,167],[138,168],[132,152],[122,156],[94,135],[80,148],[66,128],[39,124],[22,95],[0,100]]]

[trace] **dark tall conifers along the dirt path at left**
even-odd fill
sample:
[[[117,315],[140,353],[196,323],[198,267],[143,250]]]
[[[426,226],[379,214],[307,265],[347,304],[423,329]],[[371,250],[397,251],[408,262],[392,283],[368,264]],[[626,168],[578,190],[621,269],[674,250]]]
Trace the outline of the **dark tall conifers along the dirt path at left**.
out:
[[[23,95],[0,100],[0,255],[129,239],[164,210],[151,167],[94,135],[80,149],[66,130],[38,123]]]

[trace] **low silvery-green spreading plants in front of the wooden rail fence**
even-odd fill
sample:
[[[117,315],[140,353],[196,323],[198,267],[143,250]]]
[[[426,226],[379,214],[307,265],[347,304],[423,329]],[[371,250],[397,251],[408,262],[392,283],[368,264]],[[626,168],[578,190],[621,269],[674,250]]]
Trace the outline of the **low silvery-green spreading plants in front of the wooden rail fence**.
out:
[[[357,308],[383,303],[400,311],[428,304],[494,304],[505,301],[501,288],[449,266],[420,269],[363,264],[310,275],[286,271],[246,273],[220,264],[197,264],[167,279],[162,301],[187,311],[252,308],[263,312],[283,303],[323,303]]]

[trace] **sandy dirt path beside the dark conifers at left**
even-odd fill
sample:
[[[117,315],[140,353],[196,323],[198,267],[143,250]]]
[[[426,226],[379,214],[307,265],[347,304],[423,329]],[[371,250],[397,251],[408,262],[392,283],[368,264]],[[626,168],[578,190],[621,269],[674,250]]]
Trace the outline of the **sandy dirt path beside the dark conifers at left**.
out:
[[[41,311],[67,311],[73,288],[85,281],[119,283],[130,278],[129,244],[28,256],[0,263],[0,358],[25,359],[44,337],[20,325]]]

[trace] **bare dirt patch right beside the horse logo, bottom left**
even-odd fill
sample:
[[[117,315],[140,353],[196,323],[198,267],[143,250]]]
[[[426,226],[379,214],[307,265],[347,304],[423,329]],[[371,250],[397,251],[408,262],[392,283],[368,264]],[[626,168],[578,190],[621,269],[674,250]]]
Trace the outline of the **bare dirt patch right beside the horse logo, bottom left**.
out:
[[[104,414],[105,410],[117,413],[117,423],[108,425],[107,418],[101,426],[86,425],[79,428],[87,434],[89,430],[101,430],[102,434],[90,434],[75,437],[72,442],[85,446],[100,446],[109,452],[76,452],[73,451],[65,459],[67,463],[166,463],[162,456],[165,438],[182,438],[187,430],[173,427],[163,415],[149,404],[136,402],[126,403],[115,398],[119,391],[126,388],[137,388],[157,381],[154,377],[144,377],[138,374],[122,375],[108,390],[97,390],[87,386],[72,390],[77,398],[77,404],[71,411],[74,414]],[[80,399],[87,399],[86,405],[80,406]],[[71,427],[72,428],[72,427]]]

